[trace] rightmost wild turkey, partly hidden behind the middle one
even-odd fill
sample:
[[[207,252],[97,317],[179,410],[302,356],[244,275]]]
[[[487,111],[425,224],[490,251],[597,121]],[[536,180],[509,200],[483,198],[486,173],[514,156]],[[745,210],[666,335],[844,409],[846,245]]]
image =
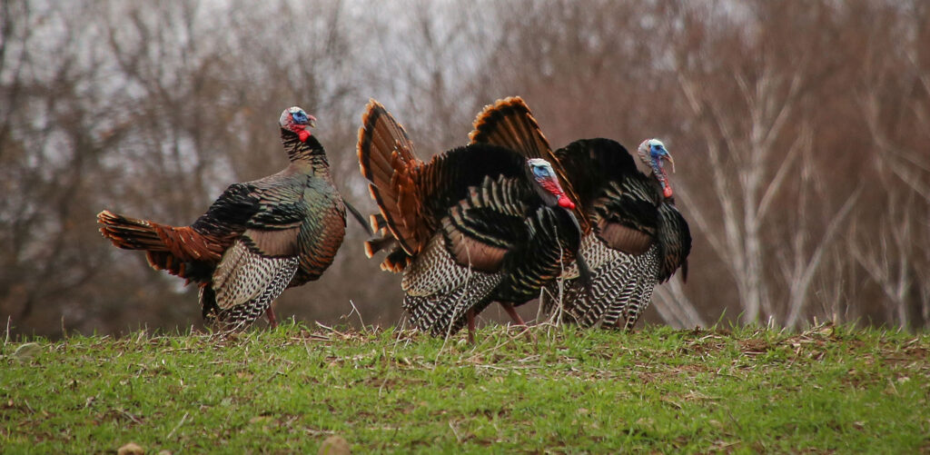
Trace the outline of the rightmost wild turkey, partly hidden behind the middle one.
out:
[[[575,141],[552,153],[520,98],[486,107],[470,137],[472,143],[507,145],[526,156],[547,157],[577,197],[587,228],[580,256],[591,267],[590,288],[575,279],[565,281],[563,292],[550,284],[544,302],[548,311],[561,308],[565,319],[586,327],[632,328],[657,283],[669,279],[679,266],[686,275],[691,235],[674,207],[662,160],[672,167],[674,162],[661,141],[647,140],[640,146],[640,158],[652,169],[648,177],[616,141]],[[554,300],[563,305],[556,307]]]

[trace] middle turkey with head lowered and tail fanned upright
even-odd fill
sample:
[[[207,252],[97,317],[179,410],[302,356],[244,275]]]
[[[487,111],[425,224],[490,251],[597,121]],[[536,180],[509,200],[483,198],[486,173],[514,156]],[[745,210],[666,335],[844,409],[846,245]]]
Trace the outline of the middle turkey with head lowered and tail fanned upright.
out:
[[[574,204],[551,165],[506,148],[475,144],[429,163],[378,101],[359,129],[362,175],[380,213],[368,256],[390,252],[381,268],[404,272],[404,308],[434,335],[451,334],[498,296],[520,298],[574,261],[580,241]]]

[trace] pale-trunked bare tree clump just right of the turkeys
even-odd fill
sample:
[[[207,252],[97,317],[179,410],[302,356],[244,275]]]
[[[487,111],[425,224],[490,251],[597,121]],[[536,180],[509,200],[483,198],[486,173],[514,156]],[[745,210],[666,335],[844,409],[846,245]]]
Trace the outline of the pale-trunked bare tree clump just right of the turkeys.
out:
[[[681,40],[689,45],[677,50],[675,68],[696,143],[706,149],[704,181],[713,190],[711,199],[685,191],[683,200],[702,207],[693,220],[733,276],[743,320],[776,318],[794,326],[826,248],[856,202],[853,195],[824,210],[825,199],[809,196],[823,184],[818,180],[829,178],[810,158],[822,146],[810,113],[839,67],[838,60],[823,58],[821,47],[830,42],[815,38],[824,26],[813,21],[839,13],[820,4],[805,11],[809,20],[798,21],[796,10],[758,2],[736,17],[704,7],[681,14]],[[717,25],[707,26],[701,15]],[[782,210],[792,206],[798,211],[785,217]],[[772,230],[776,226],[790,233],[785,241]],[[780,279],[772,270],[778,263]]]

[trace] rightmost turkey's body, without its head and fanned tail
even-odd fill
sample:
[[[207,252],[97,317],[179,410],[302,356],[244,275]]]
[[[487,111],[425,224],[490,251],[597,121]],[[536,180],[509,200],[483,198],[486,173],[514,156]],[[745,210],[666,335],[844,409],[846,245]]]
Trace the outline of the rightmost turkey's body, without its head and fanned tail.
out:
[[[590,292],[574,278],[565,281],[561,296],[550,287],[546,306],[584,327],[632,328],[656,285],[686,264],[687,222],[617,141],[575,141],[554,154],[586,207],[591,231],[580,254],[592,277]]]

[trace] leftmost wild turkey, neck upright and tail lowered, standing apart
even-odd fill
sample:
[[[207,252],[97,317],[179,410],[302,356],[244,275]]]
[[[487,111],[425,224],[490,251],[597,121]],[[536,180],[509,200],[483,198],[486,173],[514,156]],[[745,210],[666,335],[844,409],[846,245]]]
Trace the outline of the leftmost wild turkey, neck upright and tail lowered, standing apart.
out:
[[[146,251],[154,269],[195,282],[203,315],[241,328],[285,288],[315,280],[333,262],[345,234],[345,206],[329,175],[315,118],[299,107],[281,113],[290,164],[257,181],[233,183],[190,226],[169,226],[103,210],[100,232],[113,245]]]

